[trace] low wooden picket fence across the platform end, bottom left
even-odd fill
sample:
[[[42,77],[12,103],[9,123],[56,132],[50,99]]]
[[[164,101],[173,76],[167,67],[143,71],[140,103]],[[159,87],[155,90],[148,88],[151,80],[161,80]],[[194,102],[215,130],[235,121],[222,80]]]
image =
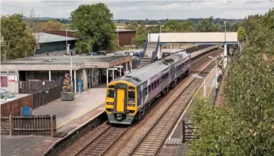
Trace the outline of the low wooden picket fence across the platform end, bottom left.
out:
[[[56,116],[9,116],[1,117],[1,134],[9,135],[56,135]]]

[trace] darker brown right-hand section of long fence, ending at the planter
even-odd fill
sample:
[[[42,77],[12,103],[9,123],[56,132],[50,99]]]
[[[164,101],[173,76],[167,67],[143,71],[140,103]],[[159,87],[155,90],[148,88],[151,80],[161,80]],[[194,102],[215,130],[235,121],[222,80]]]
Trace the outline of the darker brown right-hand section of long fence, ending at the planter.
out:
[[[52,89],[48,89],[46,91],[40,91],[38,93],[32,94],[33,95],[32,108],[35,109],[45,104],[48,104],[51,101],[59,99],[61,96],[62,90],[63,90],[63,85],[59,85]]]

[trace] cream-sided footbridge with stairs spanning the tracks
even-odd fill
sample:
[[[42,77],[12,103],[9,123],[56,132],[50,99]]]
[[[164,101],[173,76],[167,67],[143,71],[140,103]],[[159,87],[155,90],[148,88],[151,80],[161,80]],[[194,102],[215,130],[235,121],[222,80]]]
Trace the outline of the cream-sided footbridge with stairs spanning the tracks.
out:
[[[226,45],[238,45],[238,33],[148,33],[144,50],[139,57],[139,65],[147,65],[162,58],[162,45],[194,44],[194,45],[224,45],[224,55],[227,55]]]

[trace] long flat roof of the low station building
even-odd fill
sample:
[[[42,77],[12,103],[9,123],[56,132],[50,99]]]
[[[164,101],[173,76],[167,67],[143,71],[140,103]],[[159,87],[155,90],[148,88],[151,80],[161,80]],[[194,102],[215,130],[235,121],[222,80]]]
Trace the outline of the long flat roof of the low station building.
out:
[[[79,55],[73,56],[73,70],[84,68],[109,68],[132,61],[132,56],[116,55]],[[2,61],[2,72],[43,70],[70,70],[70,57],[67,56],[36,56],[23,57],[16,60]]]

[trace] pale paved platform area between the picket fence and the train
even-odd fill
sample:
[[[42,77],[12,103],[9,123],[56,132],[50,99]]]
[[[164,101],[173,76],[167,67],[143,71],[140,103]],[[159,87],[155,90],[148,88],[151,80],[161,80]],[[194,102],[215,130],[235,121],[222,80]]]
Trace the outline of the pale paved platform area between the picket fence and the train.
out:
[[[85,115],[105,102],[106,84],[98,85],[75,95],[73,101],[53,101],[33,110],[33,115],[55,114],[57,128]]]

